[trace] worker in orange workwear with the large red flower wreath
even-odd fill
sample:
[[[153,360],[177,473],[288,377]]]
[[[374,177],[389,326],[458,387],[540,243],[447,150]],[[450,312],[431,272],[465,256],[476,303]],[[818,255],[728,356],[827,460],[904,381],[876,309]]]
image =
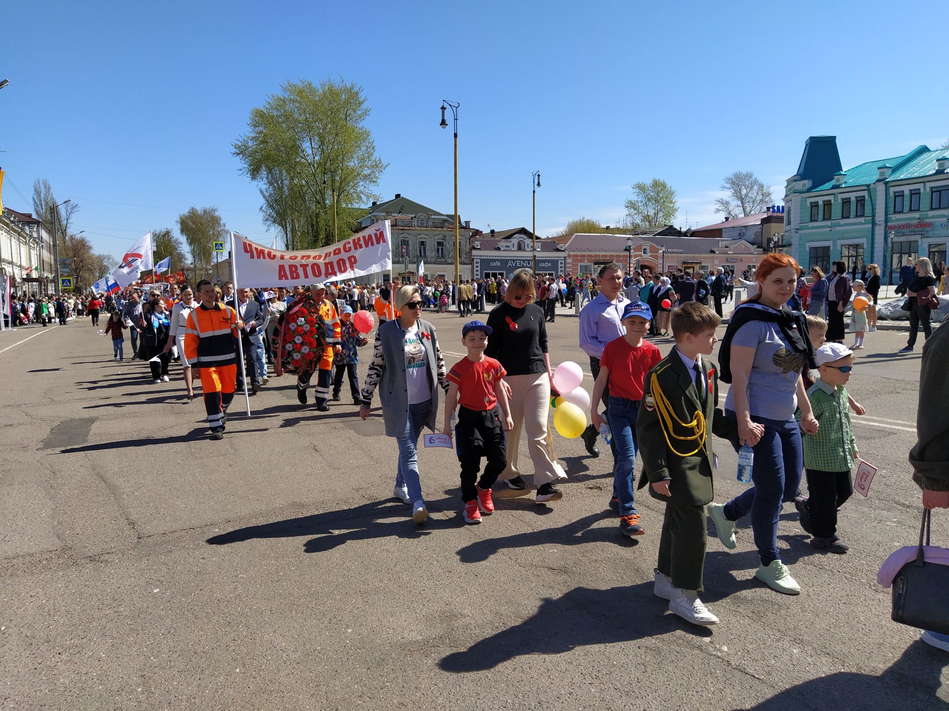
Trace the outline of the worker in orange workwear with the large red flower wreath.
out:
[[[277,341],[277,353],[281,357],[274,366],[274,374],[283,374],[285,352],[291,353],[290,358],[295,362],[290,364],[290,370],[297,374],[297,400],[301,405],[307,404],[307,388],[314,371],[318,371],[314,402],[321,412],[329,410],[333,354],[342,350],[336,306],[325,297],[326,285],[315,283],[308,291],[299,292],[298,298],[290,304]]]

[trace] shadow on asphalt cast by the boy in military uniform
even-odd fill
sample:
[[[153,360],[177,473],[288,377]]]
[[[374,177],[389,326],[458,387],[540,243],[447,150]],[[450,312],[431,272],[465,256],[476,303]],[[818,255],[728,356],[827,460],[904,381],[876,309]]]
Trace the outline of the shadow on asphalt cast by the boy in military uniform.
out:
[[[563,654],[576,647],[634,642],[677,630],[712,636],[711,629],[663,614],[668,603],[652,589],[649,581],[607,590],[574,588],[546,598],[530,619],[443,657],[438,666],[462,674],[487,671],[528,654]]]

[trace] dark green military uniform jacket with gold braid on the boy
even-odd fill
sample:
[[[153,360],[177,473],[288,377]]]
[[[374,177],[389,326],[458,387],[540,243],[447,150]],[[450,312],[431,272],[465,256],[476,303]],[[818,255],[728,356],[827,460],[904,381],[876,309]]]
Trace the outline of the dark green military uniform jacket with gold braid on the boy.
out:
[[[646,483],[669,481],[670,497],[661,496],[649,487],[649,493],[660,501],[673,501],[682,505],[703,506],[713,499],[712,487],[712,428],[716,420],[718,403],[717,367],[706,357],[701,360],[705,372],[705,387],[708,395],[705,402],[699,401],[696,391],[695,374],[690,373],[682,362],[679,352],[673,348],[668,356],[646,374],[642,388],[642,407],[636,421],[637,440],[642,456],[642,477],[639,488]],[[653,374],[656,375],[655,380]],[[654,383],[659,386],[664,401],[671,408],[672,432],[663,433],[666,425],[661,418],[660,393],[654,392]],[[678,440],[673,435],[692,436],[694,428],[685,428],[679,421],[690,423],[696,418],[696,412],[705,418],[704,443],[695,454],[679,457],[666,443],[669,442],[679,453],[688,453],[698,447],[699,439]],[[718,410],[719,420],[724,412]]]

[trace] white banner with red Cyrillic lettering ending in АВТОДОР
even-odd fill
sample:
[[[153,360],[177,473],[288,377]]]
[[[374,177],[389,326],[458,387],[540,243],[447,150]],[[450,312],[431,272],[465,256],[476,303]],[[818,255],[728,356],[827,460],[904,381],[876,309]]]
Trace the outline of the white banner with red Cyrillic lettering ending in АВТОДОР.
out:
[[[232,234],[234,267],[241,288],[338,282],[392,268],[388,220],[319,249],[285,251],[258,245],[237,232]]]

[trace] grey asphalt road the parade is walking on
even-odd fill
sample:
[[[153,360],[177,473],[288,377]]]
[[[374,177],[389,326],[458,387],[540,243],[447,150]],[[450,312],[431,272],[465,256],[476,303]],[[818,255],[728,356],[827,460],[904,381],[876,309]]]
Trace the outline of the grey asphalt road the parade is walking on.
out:
[[[426,318],[454,361],[460,319]],[[576,334],[559,315],[552,359],[586,371]],[[875,582],[919,529],[920,351],[896,355],[904,338],[869,334],[851,379],[879,473],[841,510],[850,552],[815,552],[786,512],[803,593],[785,597],[754,580],[747,521],[734,552],[713,534],[702,597],[721,624],[701,629],[652,594],[660,504],[639,497],[646,535],[620,536],[608,453],[580,440],[556,437],[562,501],[500,501],[480,526],[460,519],[453,453],[424,450],[418,528],[389,498],[379,416],[321,416],[277,378],[211,442],[174,364],[152,385],[86,320],[0,334],[0,707],[945,708],[949,655],[892,623]],[[715,446],[725,501],[742,485]]]

